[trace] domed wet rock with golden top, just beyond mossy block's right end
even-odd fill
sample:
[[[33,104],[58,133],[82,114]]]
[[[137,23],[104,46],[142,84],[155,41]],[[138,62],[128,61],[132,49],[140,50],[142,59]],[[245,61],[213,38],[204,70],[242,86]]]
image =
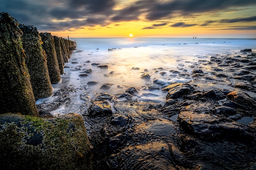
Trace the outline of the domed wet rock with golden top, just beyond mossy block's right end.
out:
[[[95,101],[88,109],[91,117],[104,117],[112,115],[110,104],[106,101]]]

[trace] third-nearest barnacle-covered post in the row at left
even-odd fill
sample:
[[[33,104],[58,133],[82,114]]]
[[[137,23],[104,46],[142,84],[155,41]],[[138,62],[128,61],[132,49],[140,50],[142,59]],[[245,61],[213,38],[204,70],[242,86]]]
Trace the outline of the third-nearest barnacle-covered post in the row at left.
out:
[[[52,84],[57,84],[61,81],[61,72],[58,66],[57,55],[54,47],[54,39],[51,33],[39,33],[42,38],[42,47],[47,54],[47,67]]]

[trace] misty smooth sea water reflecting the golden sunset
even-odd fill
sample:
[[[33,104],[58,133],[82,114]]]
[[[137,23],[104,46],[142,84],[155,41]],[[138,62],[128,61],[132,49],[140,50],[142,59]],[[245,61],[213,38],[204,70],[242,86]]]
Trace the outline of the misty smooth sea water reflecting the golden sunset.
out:
[[[99,93],[120,96],[130,86],[139,93],[132,99],[152,100],[164,103],[167,92],[152,90],[155,85],[161,89],[172,82],[187,82],[193,65],[207,62],[213,55],[238,55],[241,49],[256,51],[256,40],[234,38],[71,38],[77,44],[70,62],[65,64],[62,82],[53,84],[54,91],[65,86],[81,88],[88,82],[97,84],[91,89],[90,99]],[[112,50],[109,50],[112,49]],[[93,64],[107,65],[99,68]],[[81,71],[91,69],[87,77]],[[142,79],[148,73],[150,79]],[[105,83],[110,89],[102,89]],[[38,103],[50,102],[51,97]],[[59,110],[58,110],[59,112]]]

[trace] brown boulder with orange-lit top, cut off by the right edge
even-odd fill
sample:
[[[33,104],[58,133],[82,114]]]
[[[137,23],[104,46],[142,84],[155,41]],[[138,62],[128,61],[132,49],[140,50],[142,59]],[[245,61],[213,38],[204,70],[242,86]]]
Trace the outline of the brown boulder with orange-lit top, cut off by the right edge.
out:
[[[227,97],[233,101],[236,102],[242,106],[246,106],[249,108],[256,108],[256,101],[252,99],[247,93],[241,91],[241,90],[236,90],[233,92],[230,92]]]

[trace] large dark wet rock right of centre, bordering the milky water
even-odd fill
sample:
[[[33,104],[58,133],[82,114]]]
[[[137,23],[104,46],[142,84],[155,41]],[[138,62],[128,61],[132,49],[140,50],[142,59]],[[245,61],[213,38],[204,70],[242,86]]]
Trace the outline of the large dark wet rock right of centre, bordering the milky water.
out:
[[[171,90],[169,90],[168,94],[166,95],[166,100],[182,98],[182,97],[185,97],[186,95],[189,95],[192,92],[193,92],[193,87],[191,85],[182,84],[174,88],[171,88]]]

